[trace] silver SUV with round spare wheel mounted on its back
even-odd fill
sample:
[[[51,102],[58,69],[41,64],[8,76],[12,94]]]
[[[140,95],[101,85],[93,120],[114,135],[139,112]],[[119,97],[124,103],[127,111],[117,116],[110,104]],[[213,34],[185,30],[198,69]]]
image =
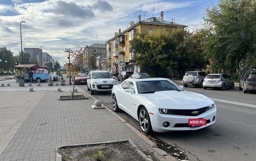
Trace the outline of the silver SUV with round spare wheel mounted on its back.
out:
[[[203,71],[189,71],[183,76],[182,83],[185,87],[188,85],[194,85],[202,88],[205,76],[207,76],[207,73]]]

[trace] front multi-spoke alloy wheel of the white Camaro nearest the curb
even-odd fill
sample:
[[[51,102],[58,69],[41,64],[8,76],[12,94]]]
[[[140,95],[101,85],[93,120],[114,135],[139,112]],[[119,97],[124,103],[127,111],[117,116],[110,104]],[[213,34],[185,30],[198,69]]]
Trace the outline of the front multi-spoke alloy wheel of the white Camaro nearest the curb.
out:
[[[140,109],[139,122],[140,122],[140,128],[143,132],[145,132],[146,134],[150,134],[152,132],[149,114],[145,107]]]

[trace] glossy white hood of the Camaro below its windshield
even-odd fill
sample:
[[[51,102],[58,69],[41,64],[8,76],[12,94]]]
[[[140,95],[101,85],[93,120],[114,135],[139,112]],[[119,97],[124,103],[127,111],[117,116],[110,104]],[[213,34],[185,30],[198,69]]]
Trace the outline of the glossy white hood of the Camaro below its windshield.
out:
[[[214,103],[207,96],[189,91],[157,91],[144,96],[158,107],[193,108]]]

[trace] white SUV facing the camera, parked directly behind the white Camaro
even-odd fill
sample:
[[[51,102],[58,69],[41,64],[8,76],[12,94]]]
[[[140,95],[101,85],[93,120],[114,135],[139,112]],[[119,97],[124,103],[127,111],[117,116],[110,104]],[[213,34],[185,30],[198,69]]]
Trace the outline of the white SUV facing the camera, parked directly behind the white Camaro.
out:
[[[93,95],[95,91],[112,91],[115,79],[108,71],[90,71],[87,77],[87,90]]]

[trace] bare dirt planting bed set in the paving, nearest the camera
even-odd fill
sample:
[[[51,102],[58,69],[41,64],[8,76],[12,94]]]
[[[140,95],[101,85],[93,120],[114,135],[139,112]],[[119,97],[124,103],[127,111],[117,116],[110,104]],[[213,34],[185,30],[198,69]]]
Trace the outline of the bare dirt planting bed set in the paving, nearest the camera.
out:
[[[63,161],[146,161],[128,141],[97,145],[67,146],[58,149]]]

